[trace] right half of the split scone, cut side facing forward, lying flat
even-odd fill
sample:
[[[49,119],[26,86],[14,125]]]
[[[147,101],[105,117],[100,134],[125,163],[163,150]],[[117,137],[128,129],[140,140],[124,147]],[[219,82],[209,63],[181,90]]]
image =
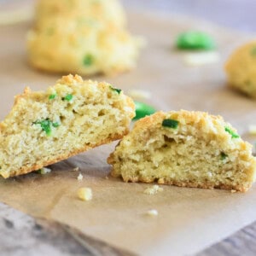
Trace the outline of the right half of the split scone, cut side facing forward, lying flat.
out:
[[[252,146],[230,124],[184,110],[138,120],[108,163],[125,182],[240,191],[252,186],[256,171]]]

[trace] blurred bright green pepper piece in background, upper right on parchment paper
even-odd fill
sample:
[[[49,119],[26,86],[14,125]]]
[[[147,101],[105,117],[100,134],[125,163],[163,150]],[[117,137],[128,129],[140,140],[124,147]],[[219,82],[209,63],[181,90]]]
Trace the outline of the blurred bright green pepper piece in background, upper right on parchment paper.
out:
[[[215,49],[214,39],[205,32],[183,32],[177,37],[178,49]]]

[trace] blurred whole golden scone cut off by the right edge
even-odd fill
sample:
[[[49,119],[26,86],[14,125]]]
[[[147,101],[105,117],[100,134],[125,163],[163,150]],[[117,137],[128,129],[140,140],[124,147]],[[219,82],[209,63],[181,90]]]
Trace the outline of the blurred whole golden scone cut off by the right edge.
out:
[[[256,41],[236,49],[226,62],[228,84],[256,98]]]

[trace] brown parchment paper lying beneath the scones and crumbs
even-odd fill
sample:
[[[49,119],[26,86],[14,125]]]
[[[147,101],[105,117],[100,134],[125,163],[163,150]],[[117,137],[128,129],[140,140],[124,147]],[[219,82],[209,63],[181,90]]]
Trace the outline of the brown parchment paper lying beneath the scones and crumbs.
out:
[[[148,40],[137,69],[115,78],[93,79],[107,80],[125,91],[149,90],[153,97],[148,102],[158,109],[221,114],[253,142],[247,126],[256,123],[256,102],[227,89],[223,72],[231,50],[253,35],[171,14],[131,13],[129,20],[131,31]],[[1,119],[11,108],[13,96],[26,85],[44,89],[60,77],[27,66],[29,26],[0,27]],[[184,65],[183,53],[172,49],[172,44],[179,32],[192,28],[210,32],[217,39],[220,62],[203,67]],[[106,159],[114,144],[55,164],[44,176],[31,173],[0,178],[0,201],[36,217],[71,224],[87,235],[142,255],[195,253],[256,219],[256,186],[246,194],[162,186],[162,193],[145,195],[148,184],[106,178],[110,170]],[[73,171],[77,166],[84,175],[81,182],[79,172]],[[93,190],[92,201],[79,201],[76,191],[82,186]],[[152,208],[158,210],[158,217],[146,216]]]

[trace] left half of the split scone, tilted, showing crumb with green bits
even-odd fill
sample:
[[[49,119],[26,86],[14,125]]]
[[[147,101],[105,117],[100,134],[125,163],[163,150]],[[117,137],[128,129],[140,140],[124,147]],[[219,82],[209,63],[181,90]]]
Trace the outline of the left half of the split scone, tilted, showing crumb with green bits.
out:
[[[38,170],[128,132],[131,98],[111,84],[63,77],[46,91],[26,88],[0,123],[0,174]]]

